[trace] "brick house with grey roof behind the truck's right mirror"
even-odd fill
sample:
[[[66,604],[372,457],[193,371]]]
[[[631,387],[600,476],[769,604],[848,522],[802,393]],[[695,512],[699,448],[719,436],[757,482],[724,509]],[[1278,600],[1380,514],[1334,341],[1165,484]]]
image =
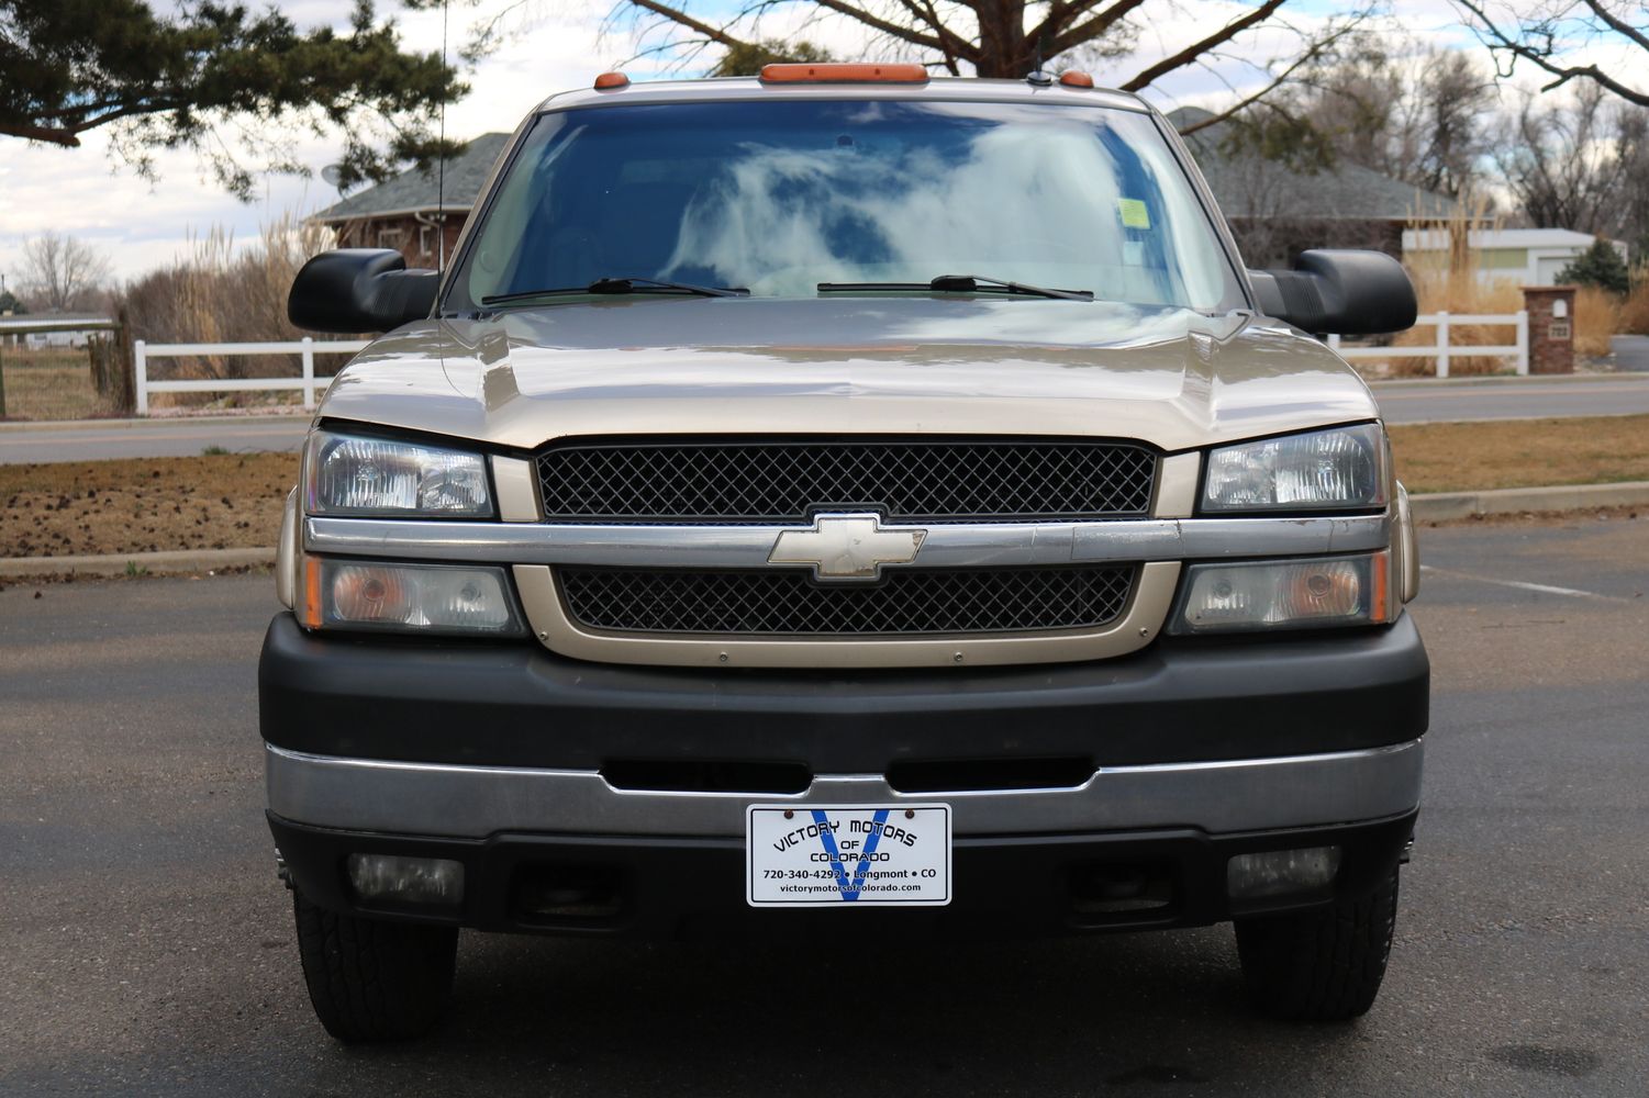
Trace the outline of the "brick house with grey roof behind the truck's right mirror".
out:
[[[1186,129],[1209,117],[1182,107],[1167,120]],[[1407,226],[1463,213],[1451,198],[1346,160],[1313,173],[1252,152],[1230,153],[1222,148],[1229,135],[1227,124],[1215,122],[1186,143],[1250,267],[1286,267],[1309,247],[1372,247],[1400,257]]]

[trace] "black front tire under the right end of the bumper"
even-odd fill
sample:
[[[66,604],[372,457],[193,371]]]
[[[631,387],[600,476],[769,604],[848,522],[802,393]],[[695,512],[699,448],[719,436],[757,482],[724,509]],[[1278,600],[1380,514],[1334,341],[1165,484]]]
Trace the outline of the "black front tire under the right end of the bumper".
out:
[[[1273,1017],[1342,1022],[1380,992],[1397,925],[1397,870],[1365,897],[1299,915],[1237,920],[1253,1004]]]

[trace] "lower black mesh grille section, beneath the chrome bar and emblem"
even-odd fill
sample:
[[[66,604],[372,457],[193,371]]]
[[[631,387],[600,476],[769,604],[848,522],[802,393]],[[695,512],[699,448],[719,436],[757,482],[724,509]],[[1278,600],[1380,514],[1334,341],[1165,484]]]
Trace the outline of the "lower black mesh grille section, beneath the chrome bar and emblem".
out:
[[[879,584],[818,584],[803,570],[557,570],[571,617],[623,633],[869,636],[1006,633],[1105,625],[1135,565],[920,569]]]

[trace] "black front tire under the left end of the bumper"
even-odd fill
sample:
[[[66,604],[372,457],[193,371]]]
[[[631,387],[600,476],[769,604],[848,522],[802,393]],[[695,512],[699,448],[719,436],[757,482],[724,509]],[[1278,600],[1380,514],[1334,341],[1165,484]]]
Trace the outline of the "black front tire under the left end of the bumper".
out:
[[[294,890],[298,956],[315,1017],[348,1044],[420,1037],[452,997],[457,927],[340,915]]]

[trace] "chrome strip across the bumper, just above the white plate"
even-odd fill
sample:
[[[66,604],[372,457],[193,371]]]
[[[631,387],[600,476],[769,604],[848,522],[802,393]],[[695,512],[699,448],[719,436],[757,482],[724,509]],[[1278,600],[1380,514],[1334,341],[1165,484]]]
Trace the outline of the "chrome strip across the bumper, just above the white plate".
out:
[[[818,775],[805,793],[615,790],[594,770],[458,767],[307,755],[265,745],[269,808],[294,823],[389,834],[498,831],[740,836],[747,805],[947,801],[955,833],[1303,828],[1407,813],[1420,803],[1421,740],[1372,750],[1106,767],[1062,790],[895,793],[882,775]]]

